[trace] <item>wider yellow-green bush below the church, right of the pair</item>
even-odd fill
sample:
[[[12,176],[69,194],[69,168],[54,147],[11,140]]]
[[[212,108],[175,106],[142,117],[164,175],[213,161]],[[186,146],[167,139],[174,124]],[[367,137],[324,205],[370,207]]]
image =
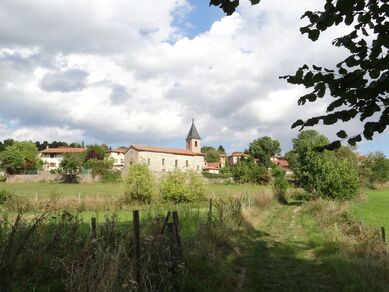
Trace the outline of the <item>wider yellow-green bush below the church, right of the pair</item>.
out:
[[[193,202],[204,197],[202,177],[195,172],[171,172],[161,183],[161,197],[175,204]]]

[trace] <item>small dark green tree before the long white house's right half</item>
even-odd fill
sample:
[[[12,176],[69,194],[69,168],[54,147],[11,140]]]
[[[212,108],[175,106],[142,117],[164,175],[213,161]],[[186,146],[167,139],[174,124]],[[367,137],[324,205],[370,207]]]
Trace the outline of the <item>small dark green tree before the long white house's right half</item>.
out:
[[[83,158],[80,154],[65,154],[59,164],[58,173],[65,183],[78,183],[78,175],[82,171]]]

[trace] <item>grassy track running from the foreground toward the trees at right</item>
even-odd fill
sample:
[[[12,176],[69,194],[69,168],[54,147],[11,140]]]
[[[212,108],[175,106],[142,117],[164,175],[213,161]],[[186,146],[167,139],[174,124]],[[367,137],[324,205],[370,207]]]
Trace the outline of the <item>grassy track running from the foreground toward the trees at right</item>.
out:
[[[237,263],[244,291],[334,291],[300,224],[298,206],[274,206],[253,222]]]

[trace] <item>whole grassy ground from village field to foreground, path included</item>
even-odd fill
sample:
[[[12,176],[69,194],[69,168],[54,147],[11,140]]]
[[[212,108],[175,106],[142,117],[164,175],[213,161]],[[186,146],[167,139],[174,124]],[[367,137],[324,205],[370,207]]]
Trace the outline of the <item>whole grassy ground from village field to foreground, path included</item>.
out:
[[[386,291],[389,286],[389,259],[376,228],[388,222],[389,189],[341,202],[306,201],[302,190],[291,188],[288,204],[280,204],[270,186],[207,185],[202,201],[134,205],[123,201],[120,184],[0,184],[4,188],[17,195],[2,205],[0,228],[0,272],[6,275],[0,287],[9,285],[10,291],[138,290],[134,209],[140,210],[144,291]],[[30,207],[20,220],[10,220],[25,203]],[[180,258],[171,231],[161,232],[173,210],[179,215]],[[360,228],[361,219],[366,228]]]

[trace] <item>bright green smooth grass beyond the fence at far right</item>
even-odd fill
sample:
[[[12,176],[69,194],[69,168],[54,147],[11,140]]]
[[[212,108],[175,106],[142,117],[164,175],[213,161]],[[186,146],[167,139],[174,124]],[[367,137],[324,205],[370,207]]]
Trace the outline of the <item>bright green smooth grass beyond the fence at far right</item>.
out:
[[[353,215],[371,227],[389,228],[389,189],[370,190],[367,199],[355,203]]]

